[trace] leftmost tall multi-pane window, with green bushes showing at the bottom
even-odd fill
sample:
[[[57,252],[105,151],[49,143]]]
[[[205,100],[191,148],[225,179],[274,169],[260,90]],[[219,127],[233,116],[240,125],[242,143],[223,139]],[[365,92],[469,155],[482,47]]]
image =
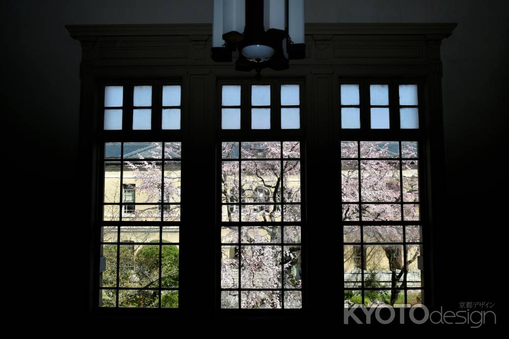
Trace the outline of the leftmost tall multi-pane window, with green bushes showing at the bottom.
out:
[[[182,144],[153,138],[180,129],[180,85],[103,88],[99,306],[178,307]]]

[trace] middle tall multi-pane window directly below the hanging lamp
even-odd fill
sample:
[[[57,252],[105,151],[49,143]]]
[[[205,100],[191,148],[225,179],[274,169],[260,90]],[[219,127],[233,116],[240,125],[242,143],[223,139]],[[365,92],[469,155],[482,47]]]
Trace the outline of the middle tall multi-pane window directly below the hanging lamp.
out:
[[[221,129],[253,136],[230,131],[219,144],[220,307],[300,309],[302,143],[280,140],[282,130],[300,129],[300,85],[220,88]],[[253,141],[260,138],[255,130],[279,141]]]

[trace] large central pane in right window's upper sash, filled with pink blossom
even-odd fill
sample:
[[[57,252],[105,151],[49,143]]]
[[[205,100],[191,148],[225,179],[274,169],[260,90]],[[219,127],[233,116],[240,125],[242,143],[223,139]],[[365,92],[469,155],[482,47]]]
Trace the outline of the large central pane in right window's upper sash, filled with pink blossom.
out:
[[[362,160],[360,186],[362,201],[401,201],[399,161]]]

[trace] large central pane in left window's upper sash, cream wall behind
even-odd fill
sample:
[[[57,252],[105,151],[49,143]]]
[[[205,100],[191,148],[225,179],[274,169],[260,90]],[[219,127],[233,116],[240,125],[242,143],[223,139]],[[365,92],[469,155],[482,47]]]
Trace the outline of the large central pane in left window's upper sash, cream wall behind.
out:
[[[161,162],[126,161],[122,184],[124,202],[160,202],[161,201]]]

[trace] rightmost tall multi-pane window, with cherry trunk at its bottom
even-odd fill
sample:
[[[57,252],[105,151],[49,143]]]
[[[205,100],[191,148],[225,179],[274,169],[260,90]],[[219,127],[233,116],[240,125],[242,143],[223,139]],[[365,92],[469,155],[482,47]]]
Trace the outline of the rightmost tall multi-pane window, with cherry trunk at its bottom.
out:
[[[418,86],[340,88],[345,307],[422,303]]]

